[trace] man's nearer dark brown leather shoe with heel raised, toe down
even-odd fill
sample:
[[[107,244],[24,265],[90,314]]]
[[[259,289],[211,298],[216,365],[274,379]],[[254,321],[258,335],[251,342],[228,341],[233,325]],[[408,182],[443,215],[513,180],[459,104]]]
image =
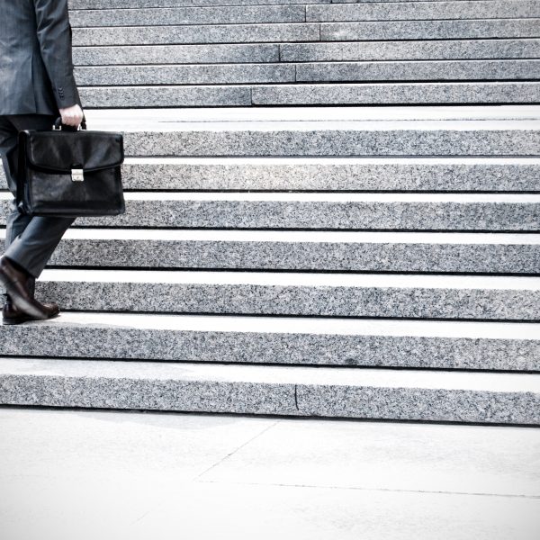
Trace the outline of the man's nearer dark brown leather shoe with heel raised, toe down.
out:
[[[50,319],[49,309],[34,299],[29,288],[29,278],[30,275],[15,268],[9,259],[0,258],[0,284],[4,285],[14,307],[31,319]]]

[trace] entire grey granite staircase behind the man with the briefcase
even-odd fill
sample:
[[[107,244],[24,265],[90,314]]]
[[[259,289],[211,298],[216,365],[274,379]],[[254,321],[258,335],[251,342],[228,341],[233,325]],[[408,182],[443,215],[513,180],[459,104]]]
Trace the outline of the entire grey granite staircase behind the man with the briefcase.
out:
[[[540,424],[540,3],[127,4],[70,2],[127,212],[0,327],[0,403]]]

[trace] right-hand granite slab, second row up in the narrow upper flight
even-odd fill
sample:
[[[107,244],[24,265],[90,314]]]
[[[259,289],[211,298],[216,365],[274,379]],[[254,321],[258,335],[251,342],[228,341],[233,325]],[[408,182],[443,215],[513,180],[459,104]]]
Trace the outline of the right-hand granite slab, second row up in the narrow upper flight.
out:
[[[296,66],[296,80],[299,82],[537,78],[540,78],[540,60],[536,59],[316,62]]]

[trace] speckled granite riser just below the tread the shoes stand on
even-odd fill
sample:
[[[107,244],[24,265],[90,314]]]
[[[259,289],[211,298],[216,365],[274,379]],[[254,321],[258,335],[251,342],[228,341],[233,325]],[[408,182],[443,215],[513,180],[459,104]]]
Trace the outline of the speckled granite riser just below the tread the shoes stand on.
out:
[[[166,362],[540,370],[540,340],[0,327],[2,355]]]

